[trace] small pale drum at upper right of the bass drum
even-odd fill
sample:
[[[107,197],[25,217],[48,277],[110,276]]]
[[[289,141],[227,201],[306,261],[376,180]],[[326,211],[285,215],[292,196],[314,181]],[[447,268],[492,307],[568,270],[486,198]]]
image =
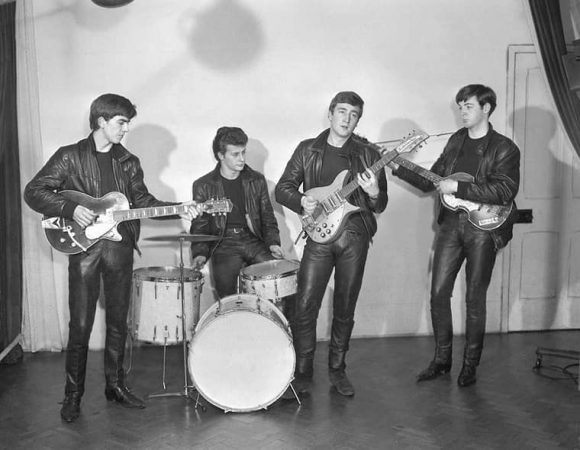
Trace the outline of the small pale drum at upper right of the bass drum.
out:
[[[287,259],[274,259],[244,267],[240,271],[242,291],[256,294],[279,306],[279,300],[293,295],[297,290],[300,263]]]

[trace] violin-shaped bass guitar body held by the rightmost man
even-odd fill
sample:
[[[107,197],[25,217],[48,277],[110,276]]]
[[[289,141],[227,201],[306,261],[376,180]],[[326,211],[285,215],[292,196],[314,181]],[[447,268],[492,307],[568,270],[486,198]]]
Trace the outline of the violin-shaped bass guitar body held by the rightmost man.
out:
[[[457,172],[448,176],[446,179],[455,181],[467,181],[472,183],[473,176],[464,172]],[[495,230],[503,224],[512,210],[513,204],[508,206],[502,205],[487,205],[484,203],[470,202],[469,200],[462,200],[456,198],[452,194],[441,194],[441,203],[451,211],[462,209],[467,212],[469,221],[480,230],[490,231]]]

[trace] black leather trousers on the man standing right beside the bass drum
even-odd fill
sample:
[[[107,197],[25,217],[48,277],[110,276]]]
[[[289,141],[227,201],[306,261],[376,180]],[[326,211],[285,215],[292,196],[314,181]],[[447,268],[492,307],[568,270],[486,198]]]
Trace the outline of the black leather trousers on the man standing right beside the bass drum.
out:
[[[360,292],[369,248],[366,235],[345,230],[329,244],[308,239],[298,272],[298,289],[291,328],[296,351],[296,375],[311,377],[316,349],[316,321],[322,298],[334,269],[332,329],[329,369],[346,367],[345,355],[354,326],[354,311]]]

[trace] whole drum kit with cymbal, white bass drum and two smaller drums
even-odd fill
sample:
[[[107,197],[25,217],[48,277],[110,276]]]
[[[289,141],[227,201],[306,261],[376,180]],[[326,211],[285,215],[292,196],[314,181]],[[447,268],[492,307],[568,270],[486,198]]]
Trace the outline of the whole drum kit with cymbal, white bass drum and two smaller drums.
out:
[[[296,364],[292,333],[283,312],[288,297],[296,293],[299,264],[272,260],[243,268],[238,277],[241,292],[219,299],[200,318],[203,275],[184,266],[183,243],[219,239],[184,233],[146,238],[180,246],[179,267],[133,272],[130,335],[164,349],[164,392],[149,398],[193,399],[197,392],[196,408],[201,395],[225,412],[250,412],[267,409],[291,389],[300,404],[292,386]],[[167,345],[179,343],[184,387],[181,392],[166,392]]]

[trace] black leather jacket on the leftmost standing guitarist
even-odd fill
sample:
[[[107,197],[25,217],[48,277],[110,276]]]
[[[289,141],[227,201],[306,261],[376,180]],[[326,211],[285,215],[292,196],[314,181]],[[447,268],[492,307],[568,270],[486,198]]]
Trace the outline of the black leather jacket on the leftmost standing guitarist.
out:
[[[149,193],[143,181],[139,158],[121,144],[114,144],[110,151],[117,190],[127,197],[131,208],[175,204],[157,200]],[[91,133],[76,144],[59,148],[26,185],[24,200],[33,210],[45,216],[72,219],[77,204],[59,195],[59,191],[80,191],[99,198],[103,195],[100,183],[95,141]],[[126,223],[133,246],[137,248],[140,222],[130,220]]]

